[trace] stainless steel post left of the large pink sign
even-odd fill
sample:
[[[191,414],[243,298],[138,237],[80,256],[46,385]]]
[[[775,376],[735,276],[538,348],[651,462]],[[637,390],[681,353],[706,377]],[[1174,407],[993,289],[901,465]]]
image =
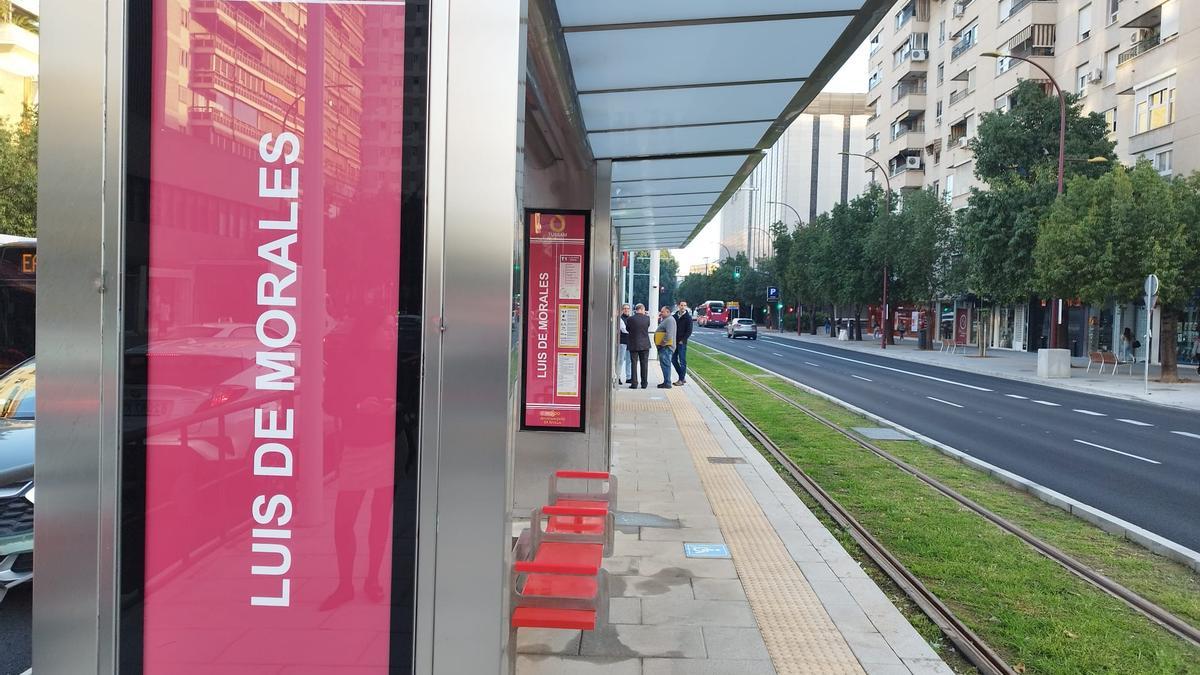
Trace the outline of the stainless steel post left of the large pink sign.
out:
[[[114,101],[124,94],[124,2],[42,10],[34,667],[107,674],[115,663],[124,168]]]

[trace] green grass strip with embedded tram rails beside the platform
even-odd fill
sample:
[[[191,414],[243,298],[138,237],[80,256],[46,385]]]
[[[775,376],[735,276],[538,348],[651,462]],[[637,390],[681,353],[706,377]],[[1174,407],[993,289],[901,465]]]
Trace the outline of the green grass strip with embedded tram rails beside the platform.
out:
[[[890,462],[732,376],[726,365],[839,425],[872,423],[712,350],[694,354],[689,365],[701,377],[1018,669],[1200,673],[1200,650]],[[892,442],[887,449],[1180,616],[1195,616],[1198,580],[1187,568],[916,442]]]

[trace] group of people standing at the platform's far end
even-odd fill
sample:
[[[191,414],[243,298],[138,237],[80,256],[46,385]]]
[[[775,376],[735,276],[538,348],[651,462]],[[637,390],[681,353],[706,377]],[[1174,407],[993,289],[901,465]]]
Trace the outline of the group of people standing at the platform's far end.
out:
[[[688,303],[680,300],[676,311],[664,305],[659,309],[659,324],[653,333],[653,344],[659,352],[659,368],[662,369],[662,383],[659,389],[683,387],[688,382],[688,339],[691,338],[691,312]],[[620,335],[620,352],[617,363],[618,378],[624,378],[630,389],[649,386],[648,363],[650,358],[650,317],[646,305],[638,303],[632,310],[629,305],[620,306],[617,317],[617,329]],[[678,380],[672,384],[671,369],[674,368]],[[638,380],[641,371],[641,380]]]

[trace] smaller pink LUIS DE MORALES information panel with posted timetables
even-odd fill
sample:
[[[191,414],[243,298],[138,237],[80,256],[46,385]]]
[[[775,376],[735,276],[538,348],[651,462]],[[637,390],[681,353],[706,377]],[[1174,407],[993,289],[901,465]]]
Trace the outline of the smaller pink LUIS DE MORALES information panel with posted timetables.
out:
[[[588,214],[526,211],[522,429],[582,431]]]

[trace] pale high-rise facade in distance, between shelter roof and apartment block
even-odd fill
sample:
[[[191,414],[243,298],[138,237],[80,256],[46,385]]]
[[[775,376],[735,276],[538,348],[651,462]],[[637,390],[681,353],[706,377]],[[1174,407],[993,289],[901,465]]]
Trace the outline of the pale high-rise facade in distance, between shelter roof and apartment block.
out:
[[[763,156],[745,185],[725,204],[721,256],[770,257],[770,226],[794,228],[862,193],[866,174],[866,96],[821,94]]]

